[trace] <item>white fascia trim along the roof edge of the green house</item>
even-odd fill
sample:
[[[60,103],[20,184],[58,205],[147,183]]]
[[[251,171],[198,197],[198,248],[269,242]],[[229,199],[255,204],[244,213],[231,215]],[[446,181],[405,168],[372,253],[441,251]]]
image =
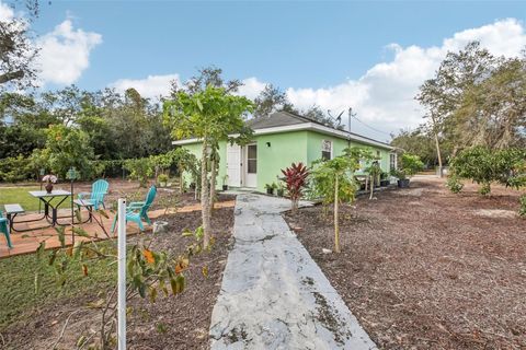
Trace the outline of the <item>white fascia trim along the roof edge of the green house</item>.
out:
[[[316,122],[302,122],[302,124],[295,124],[295,125],[288,125],[284,127],[272,127],[272,128],[264,128],[264,129],[255,129],[254,135],[267,135],[267,133],[279,133],[279,132],[288,132],[288,131],[301,131],[301,130],[310,130],[310,131],[318,131],[320,133],[324,135],[330,135],[330,136],[335,136],[338,138],[344,139],[344,140],[350,140],[351,141],[356,141],[369,145],[376,145],[386,150],[393,150],[395,148],[384,143],[379,142],[359,135],[355,133],[348,133],[347,131],[343,130],[336,130],[333,128],[329,128]],[[236,137],[237,135],[231,135],[232,137]],[[172,141],[172,144],[175,145],[183,145],[183,144],[191,144],[191,143],[196,143],[199,142],[201,139],[194,138],[194,139],[186,139],[186,140],[178,140],[178,141]]]

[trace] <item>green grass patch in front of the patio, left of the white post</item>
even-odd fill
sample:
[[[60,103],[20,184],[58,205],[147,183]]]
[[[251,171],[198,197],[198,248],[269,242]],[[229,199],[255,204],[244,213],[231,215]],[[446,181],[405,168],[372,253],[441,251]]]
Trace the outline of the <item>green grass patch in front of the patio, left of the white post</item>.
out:
[[[106,243],[108,244],[108,243]],[[61,288],[56,279],[55,268],[50,267],[46,250],[43,261],[36,254],[21,255],[0,260],[2,283],[0,283],[0,332],[10,324],[25,322],[36,308],[53,306],[78,295],[93,295],[116,283],[116,265],[110,260],[88,262],[89,277],[82,275],[79,261],[67,269],[67,283]],[[35,271],[43,269],[42,288],[35,293]]]

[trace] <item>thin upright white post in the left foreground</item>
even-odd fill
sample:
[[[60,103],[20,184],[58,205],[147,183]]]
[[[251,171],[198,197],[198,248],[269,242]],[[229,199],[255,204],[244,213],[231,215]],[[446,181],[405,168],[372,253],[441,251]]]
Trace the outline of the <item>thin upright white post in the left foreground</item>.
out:
[[[126,349],[126,199],[118,199],[118,295],[117,295],[117,337],[118,350]]]

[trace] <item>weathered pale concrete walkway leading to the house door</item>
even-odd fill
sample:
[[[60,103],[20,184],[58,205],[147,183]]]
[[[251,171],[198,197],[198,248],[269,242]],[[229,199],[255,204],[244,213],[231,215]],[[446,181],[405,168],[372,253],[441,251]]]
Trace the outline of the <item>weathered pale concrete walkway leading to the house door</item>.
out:
[[[281,217],[289,207],[285,199],[238,196],[211,349],[376,349]]]

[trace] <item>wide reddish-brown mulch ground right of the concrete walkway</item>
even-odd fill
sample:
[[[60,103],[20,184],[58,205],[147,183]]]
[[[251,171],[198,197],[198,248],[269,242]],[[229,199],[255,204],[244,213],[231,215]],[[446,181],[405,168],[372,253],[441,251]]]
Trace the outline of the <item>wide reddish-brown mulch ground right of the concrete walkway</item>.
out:
[[[286,213],[299,240],[381,349],[526,349],[526,220],[518,192],[454,195],[411,180],[341,214],[340,255],[321,207]],[[331,212],[332,215],[332,212]]]

